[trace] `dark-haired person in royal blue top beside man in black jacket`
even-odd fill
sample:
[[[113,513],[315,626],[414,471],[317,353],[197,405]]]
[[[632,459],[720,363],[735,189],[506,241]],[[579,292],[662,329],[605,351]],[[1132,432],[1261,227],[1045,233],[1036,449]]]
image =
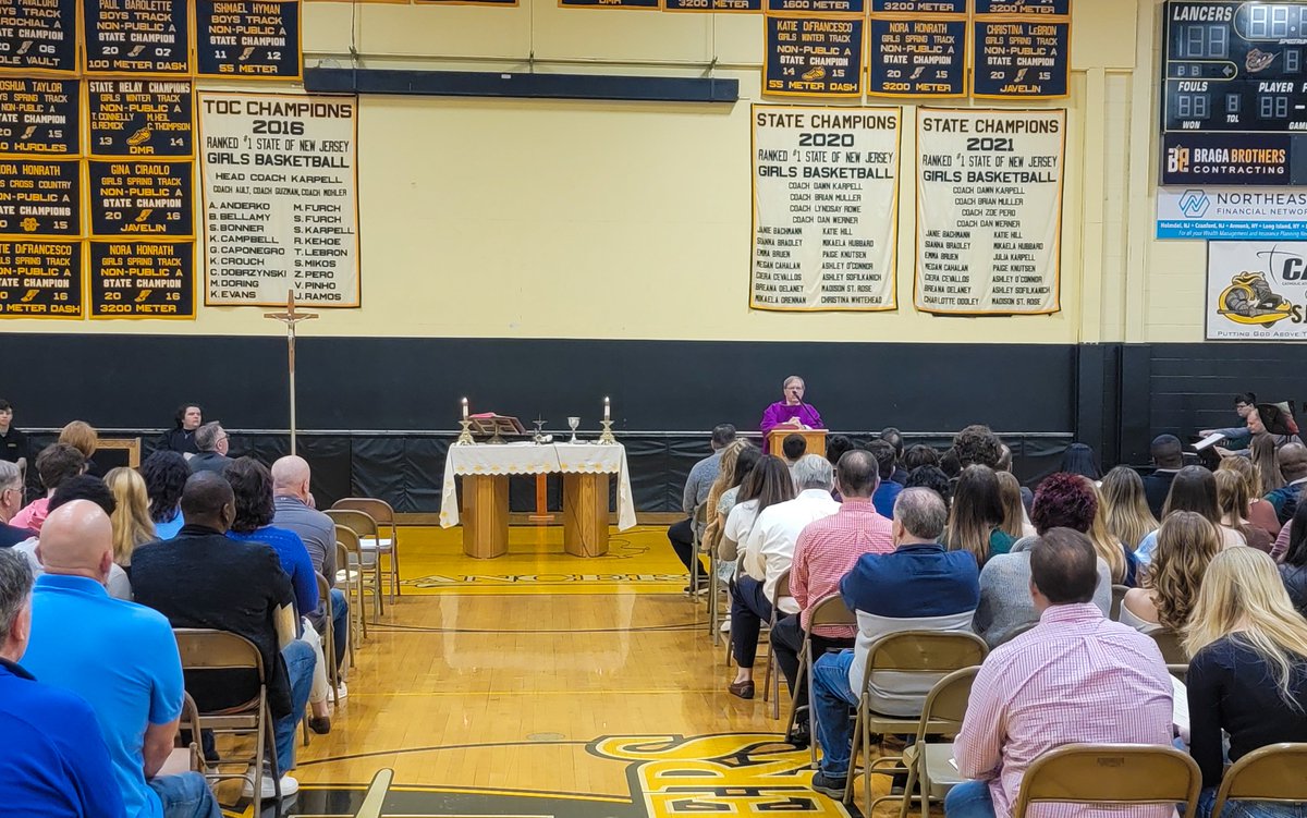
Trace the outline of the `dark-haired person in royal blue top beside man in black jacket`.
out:
[[[314,651],[314,685],[308,690],[308,706],[312,717],[308,728],[319,734],[331,732],[331,715],[327,711],[327,661],[323,659],[322,639],[307,615],[318,610],[318,574],[308,558],[308,550],[299,534],[289,528],[272,525],[273,495],[272,474],[267,466],[254,457],[238,457],[231,461],[223,477],[231,483],[235,498],[237,516],[231,520],[227,537],[238,542],[261,542],[277,553],[281,570],[290,578],[295,592],[295,622],[302,626],[299,639]]]

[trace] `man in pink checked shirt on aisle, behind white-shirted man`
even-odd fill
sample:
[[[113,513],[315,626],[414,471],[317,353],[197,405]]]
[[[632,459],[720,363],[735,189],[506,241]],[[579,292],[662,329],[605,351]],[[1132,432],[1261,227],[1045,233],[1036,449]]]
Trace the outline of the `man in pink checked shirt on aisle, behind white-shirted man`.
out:
[[[771,629],[771,649],[786,676],[789,690],[799,690],[806,700],[808,679],[799,677],[799,651],[814,604],[839,593],[839,580],[848,574],[863,554],[887,554],[894,550],[894,525],[872,504],[878,473],[884,464],[870,451],[846,452],[835,469],[835,485],[844,497],[839,511],[809,523],[799,534],[789,568],[789,593],[799,605],[797,617],[779,619]],[[813,632],[813,656],[853,647],[855,627],[825,626]],[[797,744],[808,741],[808,712],[799,719]]]

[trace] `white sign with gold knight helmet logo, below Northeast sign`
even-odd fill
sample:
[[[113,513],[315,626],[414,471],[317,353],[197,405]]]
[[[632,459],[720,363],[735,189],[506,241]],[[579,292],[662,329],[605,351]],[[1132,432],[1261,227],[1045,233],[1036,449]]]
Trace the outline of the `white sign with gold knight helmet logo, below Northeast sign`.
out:
[[[1208,242],[1209,341],[1307,341],[1307,242]]]

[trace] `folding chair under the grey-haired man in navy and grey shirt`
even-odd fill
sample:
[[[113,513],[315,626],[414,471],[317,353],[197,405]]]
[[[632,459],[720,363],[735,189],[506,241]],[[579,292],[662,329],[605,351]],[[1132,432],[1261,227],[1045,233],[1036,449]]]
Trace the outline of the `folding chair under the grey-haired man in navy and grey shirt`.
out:
[[[918,728],[919,716],[885,716],[872,710],[870,681],[874,673],[886,670],[901,676],[938,677],[962,668],[971,668],[984,661],[989,648],[984,639],[970,632],[957,631],[899,631],[881,636],[867,649],[867,664],[863,672],[863,690],[857,700],[857,720],[853,723],[853,747],[850,753],[850,775],[844,787],[844,802],[853,798],[853,770],[859,747],[863,753],[863,794],[864,815],[872,814],[872,774],[893,775],[898,770],[878,770],[877,764],[902,762],[901,757],[872,758],[873,733],[911,733]],[[936,679],[938,681],[938,679]],[[929,725],[927,725],[929,728]],[[940,734],[942,730],[927,729],[927,734]]]

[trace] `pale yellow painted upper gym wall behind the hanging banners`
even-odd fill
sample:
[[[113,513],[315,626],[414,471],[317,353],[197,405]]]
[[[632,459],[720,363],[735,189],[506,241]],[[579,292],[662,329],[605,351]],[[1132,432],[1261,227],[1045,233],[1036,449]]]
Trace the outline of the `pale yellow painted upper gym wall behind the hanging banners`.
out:
[[[305,332],[1059,344],[1201,338],[1201,243],[1150,238],[1158,0],[1074,0],[1072,97],[1031,103],[1069,108],[1063,311],[989,319],[912,310],[911,106],[902,145],[898,312],[753,312],[746,306],[749,106],[759,101],[762,17],[521,3],[495,9],[311,0],[306,61],[345,67],[357,54],[367,68],[519,72],[533,54],[538,72],[702,76],[716,60],[716,76],[740,80],[741,99],[698,106],[363,97],[363,308],[323,311]],[[203,293],[203,282],[197,289]],[[276,335],[263,311],[201,304],[196,321],[12,320],[4,328]]]

